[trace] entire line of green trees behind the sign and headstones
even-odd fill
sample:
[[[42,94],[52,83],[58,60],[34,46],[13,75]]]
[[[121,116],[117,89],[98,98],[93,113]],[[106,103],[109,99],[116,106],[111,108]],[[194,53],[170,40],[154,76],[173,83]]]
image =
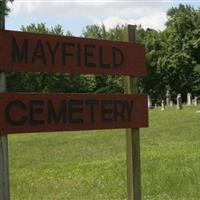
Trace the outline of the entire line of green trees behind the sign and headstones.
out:
[[[6,13],[8,10],[6,10]],[[6,14],[0,8],[1,16]],[[3,14],[2,14],[3,13]],[[2,20],[2,17],[0,17]],[[106,30],[102,25],[86,26],[80,37],[123,41],[126,25]],[[44,23],[22,26],[21,31],[73,36],[61,25],[47,27]],[[157,31],[142,26],[136,29],[137,43],[146,48],[148,75],[139,79],[142,93],[159,103],[166,90],[175,99],[177,93],[200,95],[200,9],[179,5],[167,11],[166,28]],[[111,75],[49,74],[12,72],[7,74],[9,92],[72,92],[123,93],[123,77]]]

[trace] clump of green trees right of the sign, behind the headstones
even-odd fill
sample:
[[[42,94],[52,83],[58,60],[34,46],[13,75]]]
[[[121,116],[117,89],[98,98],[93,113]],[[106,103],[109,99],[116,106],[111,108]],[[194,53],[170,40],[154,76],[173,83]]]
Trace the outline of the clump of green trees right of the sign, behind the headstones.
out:
[[[186,98],[187,92],[200,93],[200,10],[179,5],[168,10],[162,32],[141,28],[138,38],[146,46],[148,76],[142,81],[154,101],[165,98],[170,90]]]

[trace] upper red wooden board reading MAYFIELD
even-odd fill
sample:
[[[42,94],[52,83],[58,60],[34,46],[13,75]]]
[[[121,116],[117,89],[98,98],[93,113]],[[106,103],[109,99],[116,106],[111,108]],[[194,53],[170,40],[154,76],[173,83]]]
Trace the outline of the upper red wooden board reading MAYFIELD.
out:
[[[144,45],[0,31],[0,71],[145,76]]]

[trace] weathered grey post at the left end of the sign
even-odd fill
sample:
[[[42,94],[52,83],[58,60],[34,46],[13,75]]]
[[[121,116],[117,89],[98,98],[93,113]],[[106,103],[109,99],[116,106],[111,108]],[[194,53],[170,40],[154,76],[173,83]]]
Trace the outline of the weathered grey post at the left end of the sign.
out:
[[[6,4],[6,0],[2,0]],[[0,22],[0,29],[5,30],[5,16]],[[0,92],[6,91],[6,75],[0,73]],[[0,133],[0,200],[9,200],[9,174],[8,174],[8,137]]]

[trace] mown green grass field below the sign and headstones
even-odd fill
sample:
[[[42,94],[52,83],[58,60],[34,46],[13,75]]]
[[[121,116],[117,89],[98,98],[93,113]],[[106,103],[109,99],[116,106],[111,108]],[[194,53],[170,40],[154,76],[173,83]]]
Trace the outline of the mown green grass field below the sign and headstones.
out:
[[[200,199],[200,107],[150,110],[142,199]],[[124,130],[9,136],[12,200],[126,199]]]

